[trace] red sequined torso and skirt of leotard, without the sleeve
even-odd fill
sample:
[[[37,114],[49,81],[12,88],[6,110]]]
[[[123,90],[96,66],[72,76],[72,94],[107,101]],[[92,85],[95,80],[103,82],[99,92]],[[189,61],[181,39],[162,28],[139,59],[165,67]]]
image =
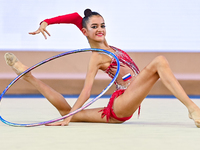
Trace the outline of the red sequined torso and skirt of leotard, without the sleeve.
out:
[[[139,69],[138,67],[136,66],[136,64],[134,63],[134,61],[130,58],[130,56],[116,48],[116,47],[113,47],[113,46],[110,46],[113,50],[115,50],[115,55],[117,56],[117,58],[119,59],[119,62],[120,62],[120,66],[123,67],[123,65],[126,65],[128,66],[133,72],[134,72],[134,76],[137,76],[139,74]],[[114,77],[114,74],[112,73],[112,69],[116,69],[117,68],[117,63],[116,63],[116,60],[114,58],[112,58],[112,61],[110,63],[110,66],[105,70],[105,72],[111,77],[113,78]],[[106,119],[107,121],[112,117],[112,118],[115,118],[119,121],[126,121],[128,119],[130,119],[132,116],[130,117],[124,117],[124,118],[119,118],[116,116],[116,114],[114,113],[113,111],[113,103],[114,103],[114,100],[120,96],[121,94],[124,93],[124,91],[126,90],[126,88],[128,87],[128,85],[130,84],[130,82],[128,82],[128,84],[126,85],[121,85],[119,84],[117,81],[115,82],[115,85],[116,85],[116,91],[112,94],[111,98],[110,98],[110,101],[107,105],[107,107],[105,107],[104,109],[102,109],[100,112],[102,112],[102,118],[106,116]],[[138,111],[138,114],[140,113],[140,107],[139,107],[139,111]]]

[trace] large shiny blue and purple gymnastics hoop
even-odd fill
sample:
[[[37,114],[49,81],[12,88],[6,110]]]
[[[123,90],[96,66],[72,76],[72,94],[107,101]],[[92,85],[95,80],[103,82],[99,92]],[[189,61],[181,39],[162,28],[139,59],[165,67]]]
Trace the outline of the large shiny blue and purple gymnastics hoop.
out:
[[[15,127],[34,127],[34,126],[40,126],[40,125],[44,125],[44,124],[49,124],[49,123],[53,123],[53,122],[57,122],[59,120],[62,120],[62,119],[65,119],[71,115],[74,115],[76,114],[77,112],[87,108],[88,106],[90,106],[92,103],[94,103],[95,101],[97,101],[97,99],[99,99],[105,92],[107,92],[107,90],[112,86],[112,84],[115,82],[115,80],[117,79],[117,76],[119,74],[119,70],[120,70],[120,64],[119,64],[119,60],[117,58],[117,56],[115,54],[113,54],[112,52],[109,52],[109,51],[106,51],[104,49],[95,49],[95,48],[88,48],[88,49],[77,49],[77,50],[72,50],[72,51],[68,51],[68,52],[64,52],[64,53],[61,53],[61,54],[58,54],[58,55],[55,55],[55,56],[52,56],[50,58],[47,58],[37,64],[35,64],[34,66],[28,68],[27,70],[25,70],[24,72],[22,72],[20,75],[18,75],[5,89],[4,91],[1,93],[0,95],[0,102],[1,102],[1,99],[3,98],[3,96],[5,95],[5,93],[8,91],[8,89],[15,83],[17,82],[22,76],[24,76],[25,74],[27,74],[28,72],[30,72],[31,70],[49,62],[49,61],[52,61],[56,58],[59,58],[59,57],[62,57],[62,56],[65,56],[65,55],[69,55],[69,54],[73,54],[73,53],[79,53],[79,52],[87,52],[87,51],[97,51],[97,52],[101,52],[101,53],[104,53],[104,54],[107,54],[107,55],[110,55],[112,56],[116,62],[117,62],[117,71],[116,71],[116,74],[115,76],[113,77],[113,79],[111,80],[111,82],[108,84],[108,86],[99,94],[97,95],[95,98],[93,98],[91,101],[89,101],[88,103],[86,103],[85,105],[83,105],[82,107],[80,107],[79,109],[65,115],[65,116],[62,116],[62,117],[59,117],[59,118],[56,118],[56,119],[52,119],[52,120],[49,120],[49,121],[44,121],[44,122],[36,122],[36,123],[30,123],[30,124],[19,124],[19,123],[12,123],[12,122],[9,122],[5,119],[3,119],[1,116],[0,116],[0,120],[7,124],[7,125],[10,125],[10,126],[15,126]]]

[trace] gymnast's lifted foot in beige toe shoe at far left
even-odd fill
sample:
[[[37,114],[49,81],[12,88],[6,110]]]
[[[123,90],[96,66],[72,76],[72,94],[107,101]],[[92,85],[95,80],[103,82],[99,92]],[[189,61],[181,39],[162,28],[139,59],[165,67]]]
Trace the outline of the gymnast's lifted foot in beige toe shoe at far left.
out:
[[[4,55],[4,58],[6,60],[6,64],[11,66],[12,69],[15,71],[15,73],[17,75],[20,75],[22,72],[24,72],[25,70],[28,69],[27,66],[23,65],[18,59],[17,57],[12,54],[12,53],[6,53]],[[29,73],[28,73],[29,74]],[[28,74],[26,74],[25,76],[27,76]]]

